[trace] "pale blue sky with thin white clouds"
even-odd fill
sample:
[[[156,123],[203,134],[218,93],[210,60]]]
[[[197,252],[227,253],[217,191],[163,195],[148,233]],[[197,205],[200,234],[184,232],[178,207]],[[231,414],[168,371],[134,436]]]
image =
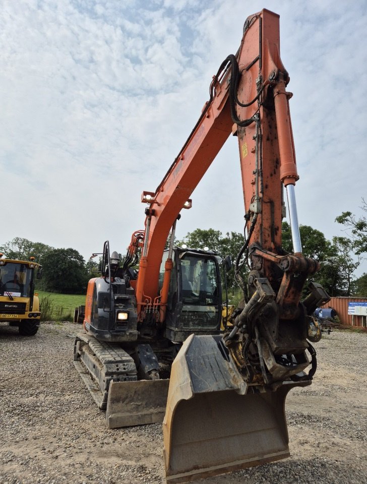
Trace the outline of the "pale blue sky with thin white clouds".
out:
[[[364,0],[0,0],[0,245],[25,237],[85,259],[125,253],[195,126],[246,18],[280,15],[300,179],[298,219],[328,239],[366,194]],[[176,236],[243,231],[236,138]],[[359,271],[366,272],[364,262]]]

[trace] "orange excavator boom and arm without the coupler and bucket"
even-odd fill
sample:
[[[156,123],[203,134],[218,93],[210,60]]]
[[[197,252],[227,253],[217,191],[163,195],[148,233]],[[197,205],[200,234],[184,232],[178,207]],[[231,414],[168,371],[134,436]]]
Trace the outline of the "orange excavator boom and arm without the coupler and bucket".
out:
[[[149,209],[136,284],[139,313],[146,301],[154,300],[158,293],[161,255],[177,215],[182,208],[191,206],[191,194],[230,134],[238,139],[244,207],[252,243],[275,254],[281,252],[285,186],[289,192],[294,252],[301,252],[294,201],[298,174],[288,81],[279,54],[279,16],[263,10],[244,24],[236,55],[229,55],[213,77],[210,99],[160,185],[155,192],[143,192],[142,201],[149,203]],[[272,279],[275,282],[279,273],[272,275],[273,262],[255,254],[254,257],[258,257],[255,266],[260,265],[271,283]],[[158,302],[164,306],[164,294]]]

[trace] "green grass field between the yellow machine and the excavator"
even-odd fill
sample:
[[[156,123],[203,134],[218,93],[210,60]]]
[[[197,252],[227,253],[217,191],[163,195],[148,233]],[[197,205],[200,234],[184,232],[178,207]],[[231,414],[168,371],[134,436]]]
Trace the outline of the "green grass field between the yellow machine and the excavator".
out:
[[[74,310],[85,304],[83,294],[57,294],[35,291],[41,305],[41,321],[73,321]]]

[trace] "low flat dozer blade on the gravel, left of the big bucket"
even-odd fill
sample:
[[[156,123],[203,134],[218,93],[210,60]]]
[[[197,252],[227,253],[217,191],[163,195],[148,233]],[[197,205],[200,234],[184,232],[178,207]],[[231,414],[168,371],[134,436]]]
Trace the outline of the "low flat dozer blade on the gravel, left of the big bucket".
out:
[[[106,419],[110,429],[162,422],[169,380],[111,382]]]

